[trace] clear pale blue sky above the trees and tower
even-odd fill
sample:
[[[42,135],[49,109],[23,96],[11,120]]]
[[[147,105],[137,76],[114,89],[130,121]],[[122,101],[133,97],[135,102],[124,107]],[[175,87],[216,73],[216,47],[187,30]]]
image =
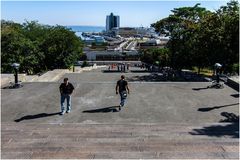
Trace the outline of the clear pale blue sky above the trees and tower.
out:
[[[1,19],[48,25],[105,26],[106,15],[120,16],[120,27],[149,27],[178,7],[215,11],[227,1],[1,1]]]

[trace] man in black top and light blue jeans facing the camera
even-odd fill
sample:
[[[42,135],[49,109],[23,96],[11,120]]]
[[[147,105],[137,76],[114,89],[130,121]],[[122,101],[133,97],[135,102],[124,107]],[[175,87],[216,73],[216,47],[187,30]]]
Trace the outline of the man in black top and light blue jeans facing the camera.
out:
[[[65,114],[64,101],[67,99],[67,113],[71,112],[71,95],[74,91],[73,85],[68,82],[68,78],[63,79],[63,83],[59,87],[61,93],[61,115]]]

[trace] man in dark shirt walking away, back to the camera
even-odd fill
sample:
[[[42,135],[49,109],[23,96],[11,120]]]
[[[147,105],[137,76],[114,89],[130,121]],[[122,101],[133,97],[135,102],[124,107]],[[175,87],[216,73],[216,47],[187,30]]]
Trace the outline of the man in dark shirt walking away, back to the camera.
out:
[[[118,93],[120,94],[120,98],[121,98],[120,105],[119,105],[119,110],[121,110],[121,107],[124,106],[125,101],[127,99],[127,94],[130,93],[128,88],[128,82],[125,80],[124,75],[122,75],[121,79],[117,81],[116,94]]]

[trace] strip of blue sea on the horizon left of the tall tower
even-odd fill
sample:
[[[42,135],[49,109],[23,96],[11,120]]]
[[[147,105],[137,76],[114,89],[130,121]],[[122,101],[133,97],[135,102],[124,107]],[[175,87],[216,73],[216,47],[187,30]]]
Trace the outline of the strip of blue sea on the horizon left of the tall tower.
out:
[[[103,26],[66,26],[74,32],[102,32],[105,30]]]

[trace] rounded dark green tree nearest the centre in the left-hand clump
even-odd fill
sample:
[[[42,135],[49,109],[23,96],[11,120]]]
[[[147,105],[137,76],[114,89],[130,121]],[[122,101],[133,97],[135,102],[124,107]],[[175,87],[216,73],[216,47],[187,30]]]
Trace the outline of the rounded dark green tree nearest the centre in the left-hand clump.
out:
[[[41,45],[46,67],[70,68],[82,56],[82,47],[74,32],[62,26],[52,27]]]

